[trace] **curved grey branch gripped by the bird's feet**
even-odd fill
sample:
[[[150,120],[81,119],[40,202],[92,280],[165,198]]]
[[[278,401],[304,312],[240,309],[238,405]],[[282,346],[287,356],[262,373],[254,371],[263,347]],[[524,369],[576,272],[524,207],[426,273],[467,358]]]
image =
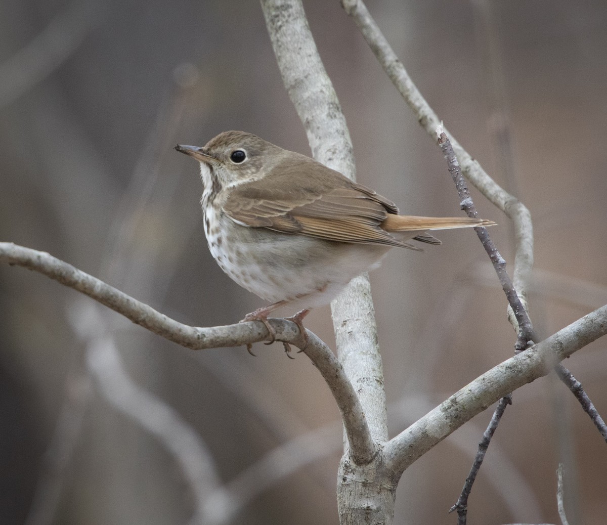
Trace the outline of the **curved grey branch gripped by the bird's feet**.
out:
[[[0,242],[0,262],[24,266],[55,279],[95,299],[135,324],[192,350],[236,347],[268,338],[268,330],[260,321],[208,328],[185,325],[46,252]],[[293,322],[270,319],[270,323],[276,331],[276,339],[301,348],[322,374],[344,419],[352,452],[360,457],[366,457],[369,450],[375,453],[375,443],[370,437],[361,403],[348,381],[344,368],[330,348],[309,330],[308,342],[305,344],[299,328]]]

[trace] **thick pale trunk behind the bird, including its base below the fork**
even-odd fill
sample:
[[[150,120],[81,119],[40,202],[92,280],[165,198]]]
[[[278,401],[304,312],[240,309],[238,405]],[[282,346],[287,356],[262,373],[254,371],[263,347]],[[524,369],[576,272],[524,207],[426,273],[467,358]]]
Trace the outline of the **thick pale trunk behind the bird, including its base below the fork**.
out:
[[[314,158],[355,178],[350,133],[299,0],[262,0],[263,14],[283,82],[304,124]],[[342,524],[390,524],[395,486],[382,483],[378,445],[388,438],[384,374],[368,276],[353,279],[331,303],[337,354],[361,401],[372,440],[344,439],[337,476]],[[349,441],[349,442],[348,442]],[[376,445],[375,441],[378,445]],[[349,445],[349,446],[348,446]],[[355,446],[356,445],[356,446]]]

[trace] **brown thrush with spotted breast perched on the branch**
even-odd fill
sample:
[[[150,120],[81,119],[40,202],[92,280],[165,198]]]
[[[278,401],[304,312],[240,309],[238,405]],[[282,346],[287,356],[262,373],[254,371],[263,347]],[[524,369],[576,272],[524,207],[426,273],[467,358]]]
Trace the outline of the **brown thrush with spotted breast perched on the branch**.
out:
[[[468,217],[412,217],[372,189],[256,135],[226,131],[206,146],[175,147],[200,161],[206,240],[219,266],[272,304],[243,321],[265,323],[284,305],[302,335],[308,310],[330,302],[353,277],[377,268],[405,241],[441,242],[427,230],[488,226]],[[250,350],[250,348],[249,348]]]

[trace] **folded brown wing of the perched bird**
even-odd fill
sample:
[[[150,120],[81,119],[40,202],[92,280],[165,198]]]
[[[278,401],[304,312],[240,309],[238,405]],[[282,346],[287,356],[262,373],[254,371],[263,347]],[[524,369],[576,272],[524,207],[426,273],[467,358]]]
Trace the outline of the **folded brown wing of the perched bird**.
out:
[[[223,209],[246,226],[415,249],[380,226],[398,213],[394,203],[303,155],[274,166],[263,180],[232,189]]]

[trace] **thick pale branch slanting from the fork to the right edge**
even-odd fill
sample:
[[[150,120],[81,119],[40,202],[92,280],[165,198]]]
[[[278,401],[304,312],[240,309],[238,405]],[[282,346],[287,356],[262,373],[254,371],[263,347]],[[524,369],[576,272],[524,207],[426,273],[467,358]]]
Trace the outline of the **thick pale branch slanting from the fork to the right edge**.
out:
[[[390,440],[385,464],[397,479],[438,442],[495,401],[541,378],[565,357],[607,334],[607,305],[493,367]]]

